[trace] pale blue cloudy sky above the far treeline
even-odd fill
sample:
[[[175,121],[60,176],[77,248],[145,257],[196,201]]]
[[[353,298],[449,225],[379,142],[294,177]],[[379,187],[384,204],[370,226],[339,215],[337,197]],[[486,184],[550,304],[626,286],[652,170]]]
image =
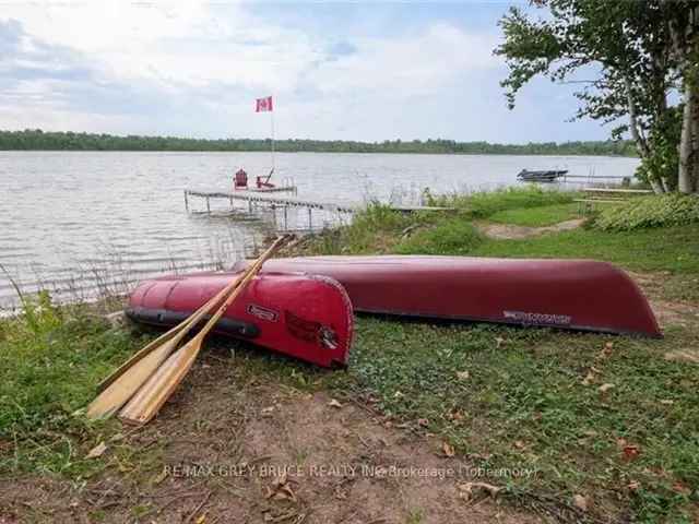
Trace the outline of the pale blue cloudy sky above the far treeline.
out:
[[[507,108],[512,2],[0,0],[0,129],[196,138],[604,140],[537,80]]]

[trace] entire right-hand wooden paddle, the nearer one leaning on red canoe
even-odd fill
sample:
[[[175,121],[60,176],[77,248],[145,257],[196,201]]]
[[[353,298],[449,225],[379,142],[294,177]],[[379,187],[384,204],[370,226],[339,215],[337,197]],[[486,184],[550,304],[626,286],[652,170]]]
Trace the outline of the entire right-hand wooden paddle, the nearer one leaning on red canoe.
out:
[[[202,348],[203,341],[216,322],[226,312],[228,306],[245,290],[248,283],[262,269],[262,264],[284,243],[289,237],[277,239],[248,270],[244,272],[239,285],[226,298],[224,303],[206,322],[204,327],[187,344],[173,353],[165,364],[150,377],[143,386],[131,397],[127,405],[119,412],[119,418],[126,422],[146,424],[161,409],[163,404],[173,394],[192,367],[197,355]]]

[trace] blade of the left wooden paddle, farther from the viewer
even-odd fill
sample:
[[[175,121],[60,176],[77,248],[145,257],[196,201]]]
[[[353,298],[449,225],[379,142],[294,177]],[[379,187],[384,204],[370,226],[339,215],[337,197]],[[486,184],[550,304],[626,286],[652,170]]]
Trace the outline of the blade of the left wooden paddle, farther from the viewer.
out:
[[[87,406],[87,418],[108,418],[114,415],[143,383],[158,369],[158,366],[177,348],[179,337],[169,340],[150,350],[123,373],[117,377]]]

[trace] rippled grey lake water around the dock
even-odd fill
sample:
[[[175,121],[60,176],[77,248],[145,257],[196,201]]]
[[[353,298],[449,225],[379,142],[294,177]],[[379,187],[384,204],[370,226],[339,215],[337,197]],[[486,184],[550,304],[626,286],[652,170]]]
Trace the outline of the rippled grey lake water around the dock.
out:
[[[416,203],[426,187],[441,193],[517,184],[522,168],[632,176],[638,165],[615,157],[344,153],[283,153],[275,163],[275,181],[292,177],[298,198],[354,204]],[[183,190],[228,191],[238,167],[252,179],[270,164],[269,153],[0,152],[0,264],[25,291],[46,287],[66,299],[125,290],[152,274],[230,264],[273,229],[272,221],[188,214]],[[14,303],[0,272],[0,308]]]

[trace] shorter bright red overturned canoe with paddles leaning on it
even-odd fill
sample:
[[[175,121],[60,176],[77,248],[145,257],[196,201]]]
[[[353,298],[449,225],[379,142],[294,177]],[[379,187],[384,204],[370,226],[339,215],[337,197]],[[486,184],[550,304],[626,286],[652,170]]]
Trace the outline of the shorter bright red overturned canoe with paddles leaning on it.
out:
[[[233,273],[173,275],[139,284],[127,315],[141,323],[175,325],[204,305]],[[215,331],[319,366],[345,366],[353,312],[347,294],[325,276],[256,277],[226,310]]]

